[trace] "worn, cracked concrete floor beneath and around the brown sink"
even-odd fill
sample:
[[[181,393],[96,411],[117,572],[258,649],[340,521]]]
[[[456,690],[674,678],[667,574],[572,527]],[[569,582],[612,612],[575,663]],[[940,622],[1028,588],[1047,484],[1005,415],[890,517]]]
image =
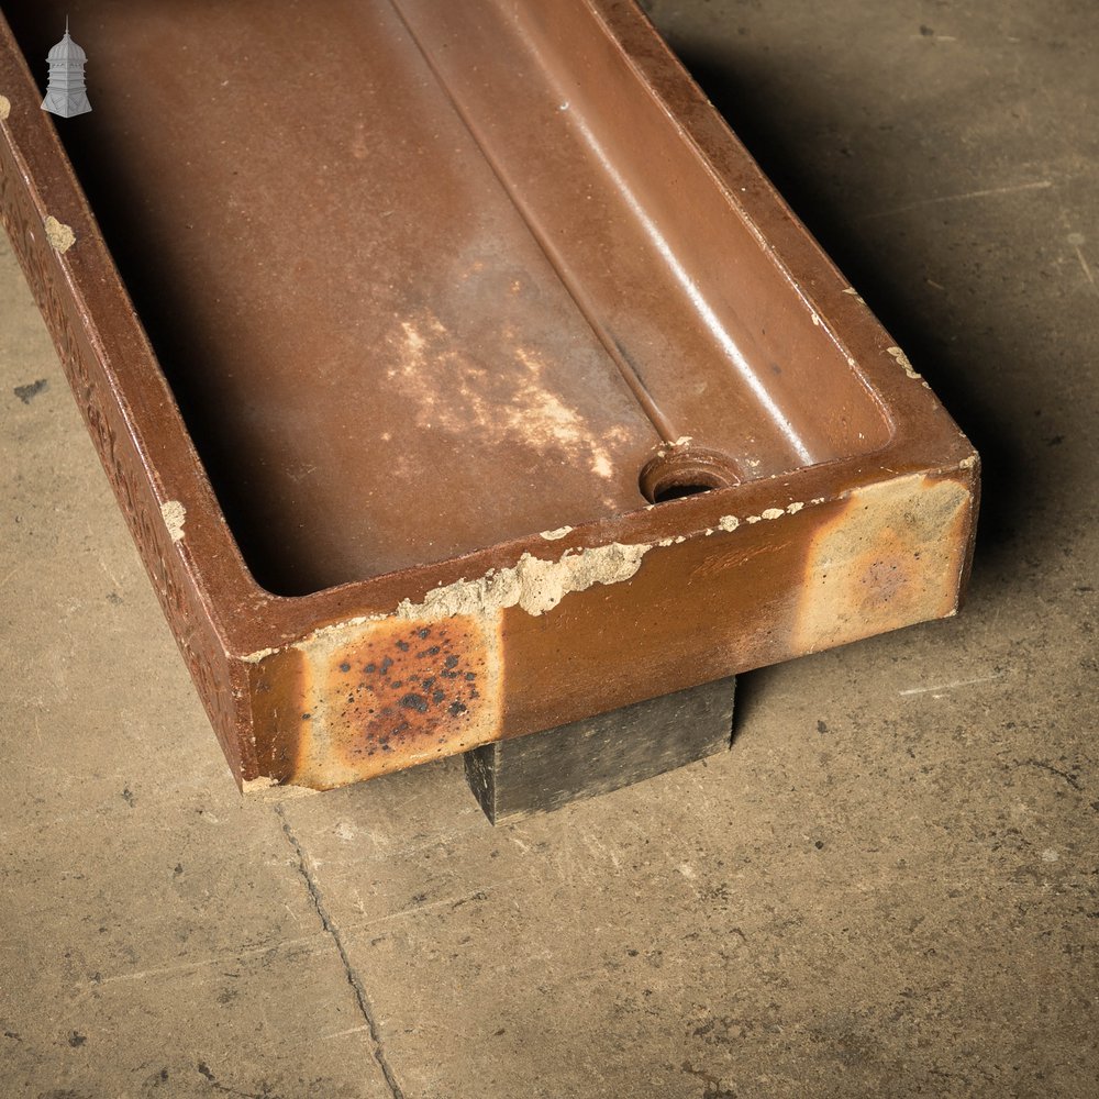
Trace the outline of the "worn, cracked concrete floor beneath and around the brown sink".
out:
[[[520,826],[242,801],[4,249],[0,1096],[1099,1095],[1099,7],[650,8],[980,448],[968,606]]]

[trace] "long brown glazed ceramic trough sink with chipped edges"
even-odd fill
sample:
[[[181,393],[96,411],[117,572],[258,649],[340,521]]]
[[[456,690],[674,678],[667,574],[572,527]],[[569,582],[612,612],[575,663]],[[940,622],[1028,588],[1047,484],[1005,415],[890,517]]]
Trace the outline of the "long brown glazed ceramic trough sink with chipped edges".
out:
[[[237,781],[955,611],[976,454],[631,4],[5,14],[0,210]]]

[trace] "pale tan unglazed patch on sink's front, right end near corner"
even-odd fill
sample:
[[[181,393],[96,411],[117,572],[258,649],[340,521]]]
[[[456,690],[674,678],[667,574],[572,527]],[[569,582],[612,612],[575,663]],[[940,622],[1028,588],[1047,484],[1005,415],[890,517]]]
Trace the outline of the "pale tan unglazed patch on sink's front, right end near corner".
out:
[[[793,650],[954,613],[973,506],[965,485],[922,474],[853,491],[810,543]]]

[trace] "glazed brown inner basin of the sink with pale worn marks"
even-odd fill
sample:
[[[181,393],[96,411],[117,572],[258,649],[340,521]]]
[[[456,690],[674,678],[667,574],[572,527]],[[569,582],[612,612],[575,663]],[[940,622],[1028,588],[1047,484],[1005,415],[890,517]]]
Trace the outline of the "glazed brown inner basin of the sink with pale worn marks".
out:
[[[662,442],[730,484],[888,437],[613,38],[551,7],[73,13],[95,110],[58,132],[274,591],[626,514]],[[12,11],[32,63],[66,11]]]

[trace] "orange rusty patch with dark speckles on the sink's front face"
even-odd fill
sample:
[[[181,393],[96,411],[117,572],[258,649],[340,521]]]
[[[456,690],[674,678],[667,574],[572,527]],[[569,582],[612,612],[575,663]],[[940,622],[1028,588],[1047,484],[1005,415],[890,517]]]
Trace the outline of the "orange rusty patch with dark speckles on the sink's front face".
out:
[[[341,786],[499,736],[491,632],[490,641],[485,624],[469,617],[391,619],[306,643],[310,720],[291,781]]]

